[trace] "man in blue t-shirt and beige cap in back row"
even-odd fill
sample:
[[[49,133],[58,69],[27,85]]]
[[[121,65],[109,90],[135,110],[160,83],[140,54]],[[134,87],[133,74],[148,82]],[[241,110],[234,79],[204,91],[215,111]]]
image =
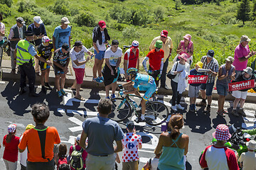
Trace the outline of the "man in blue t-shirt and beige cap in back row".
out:
[[[61,18],[61,25],[56,27],[53,33],[53,48],[54,50],[60,48],[64,43],[70,47],[70,33],[71,27],[68,26],[70,21],[67,17]]]

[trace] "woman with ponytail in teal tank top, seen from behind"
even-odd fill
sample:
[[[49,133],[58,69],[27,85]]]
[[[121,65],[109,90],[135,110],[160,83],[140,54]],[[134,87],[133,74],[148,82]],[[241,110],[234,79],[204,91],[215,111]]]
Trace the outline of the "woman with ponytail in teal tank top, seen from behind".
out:
[[[183,127],[183,116],[180,114],[171,115],[169,120],[169,132],[163,132],[159,137],[155,154],[160,154],[159,170],[180,170],[185,169],[184,155],[188,153],[188,135],[182,134],[179,130]]]

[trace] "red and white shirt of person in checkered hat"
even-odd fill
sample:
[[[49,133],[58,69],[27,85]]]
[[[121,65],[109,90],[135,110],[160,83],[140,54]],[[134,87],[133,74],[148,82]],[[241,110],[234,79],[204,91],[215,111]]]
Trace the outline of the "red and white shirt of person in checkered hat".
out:
[[[228,147],[215,147],[213,145],[204,150],[200,165],[203,168],[208,167],[210,170],[239,170],[233,150],[228,149]]]

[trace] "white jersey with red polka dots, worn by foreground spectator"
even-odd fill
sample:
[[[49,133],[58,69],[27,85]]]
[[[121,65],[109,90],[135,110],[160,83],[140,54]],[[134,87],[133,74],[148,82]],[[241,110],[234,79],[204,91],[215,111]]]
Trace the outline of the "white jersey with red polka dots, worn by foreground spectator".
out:
[[[139,145],[142,145],[141,135],[128,132],[124,139],[122,139],[122,145],[124,146],[122,162],[132,162],[139,160],[138,149]]]

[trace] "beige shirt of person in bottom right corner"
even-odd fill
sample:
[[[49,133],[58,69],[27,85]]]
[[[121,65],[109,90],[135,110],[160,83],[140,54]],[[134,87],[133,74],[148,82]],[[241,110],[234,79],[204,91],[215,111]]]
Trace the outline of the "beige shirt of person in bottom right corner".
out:
[[[256,153],[244,152],[240,155],[238,162],[242,162],[242,170],[256,170]]]

